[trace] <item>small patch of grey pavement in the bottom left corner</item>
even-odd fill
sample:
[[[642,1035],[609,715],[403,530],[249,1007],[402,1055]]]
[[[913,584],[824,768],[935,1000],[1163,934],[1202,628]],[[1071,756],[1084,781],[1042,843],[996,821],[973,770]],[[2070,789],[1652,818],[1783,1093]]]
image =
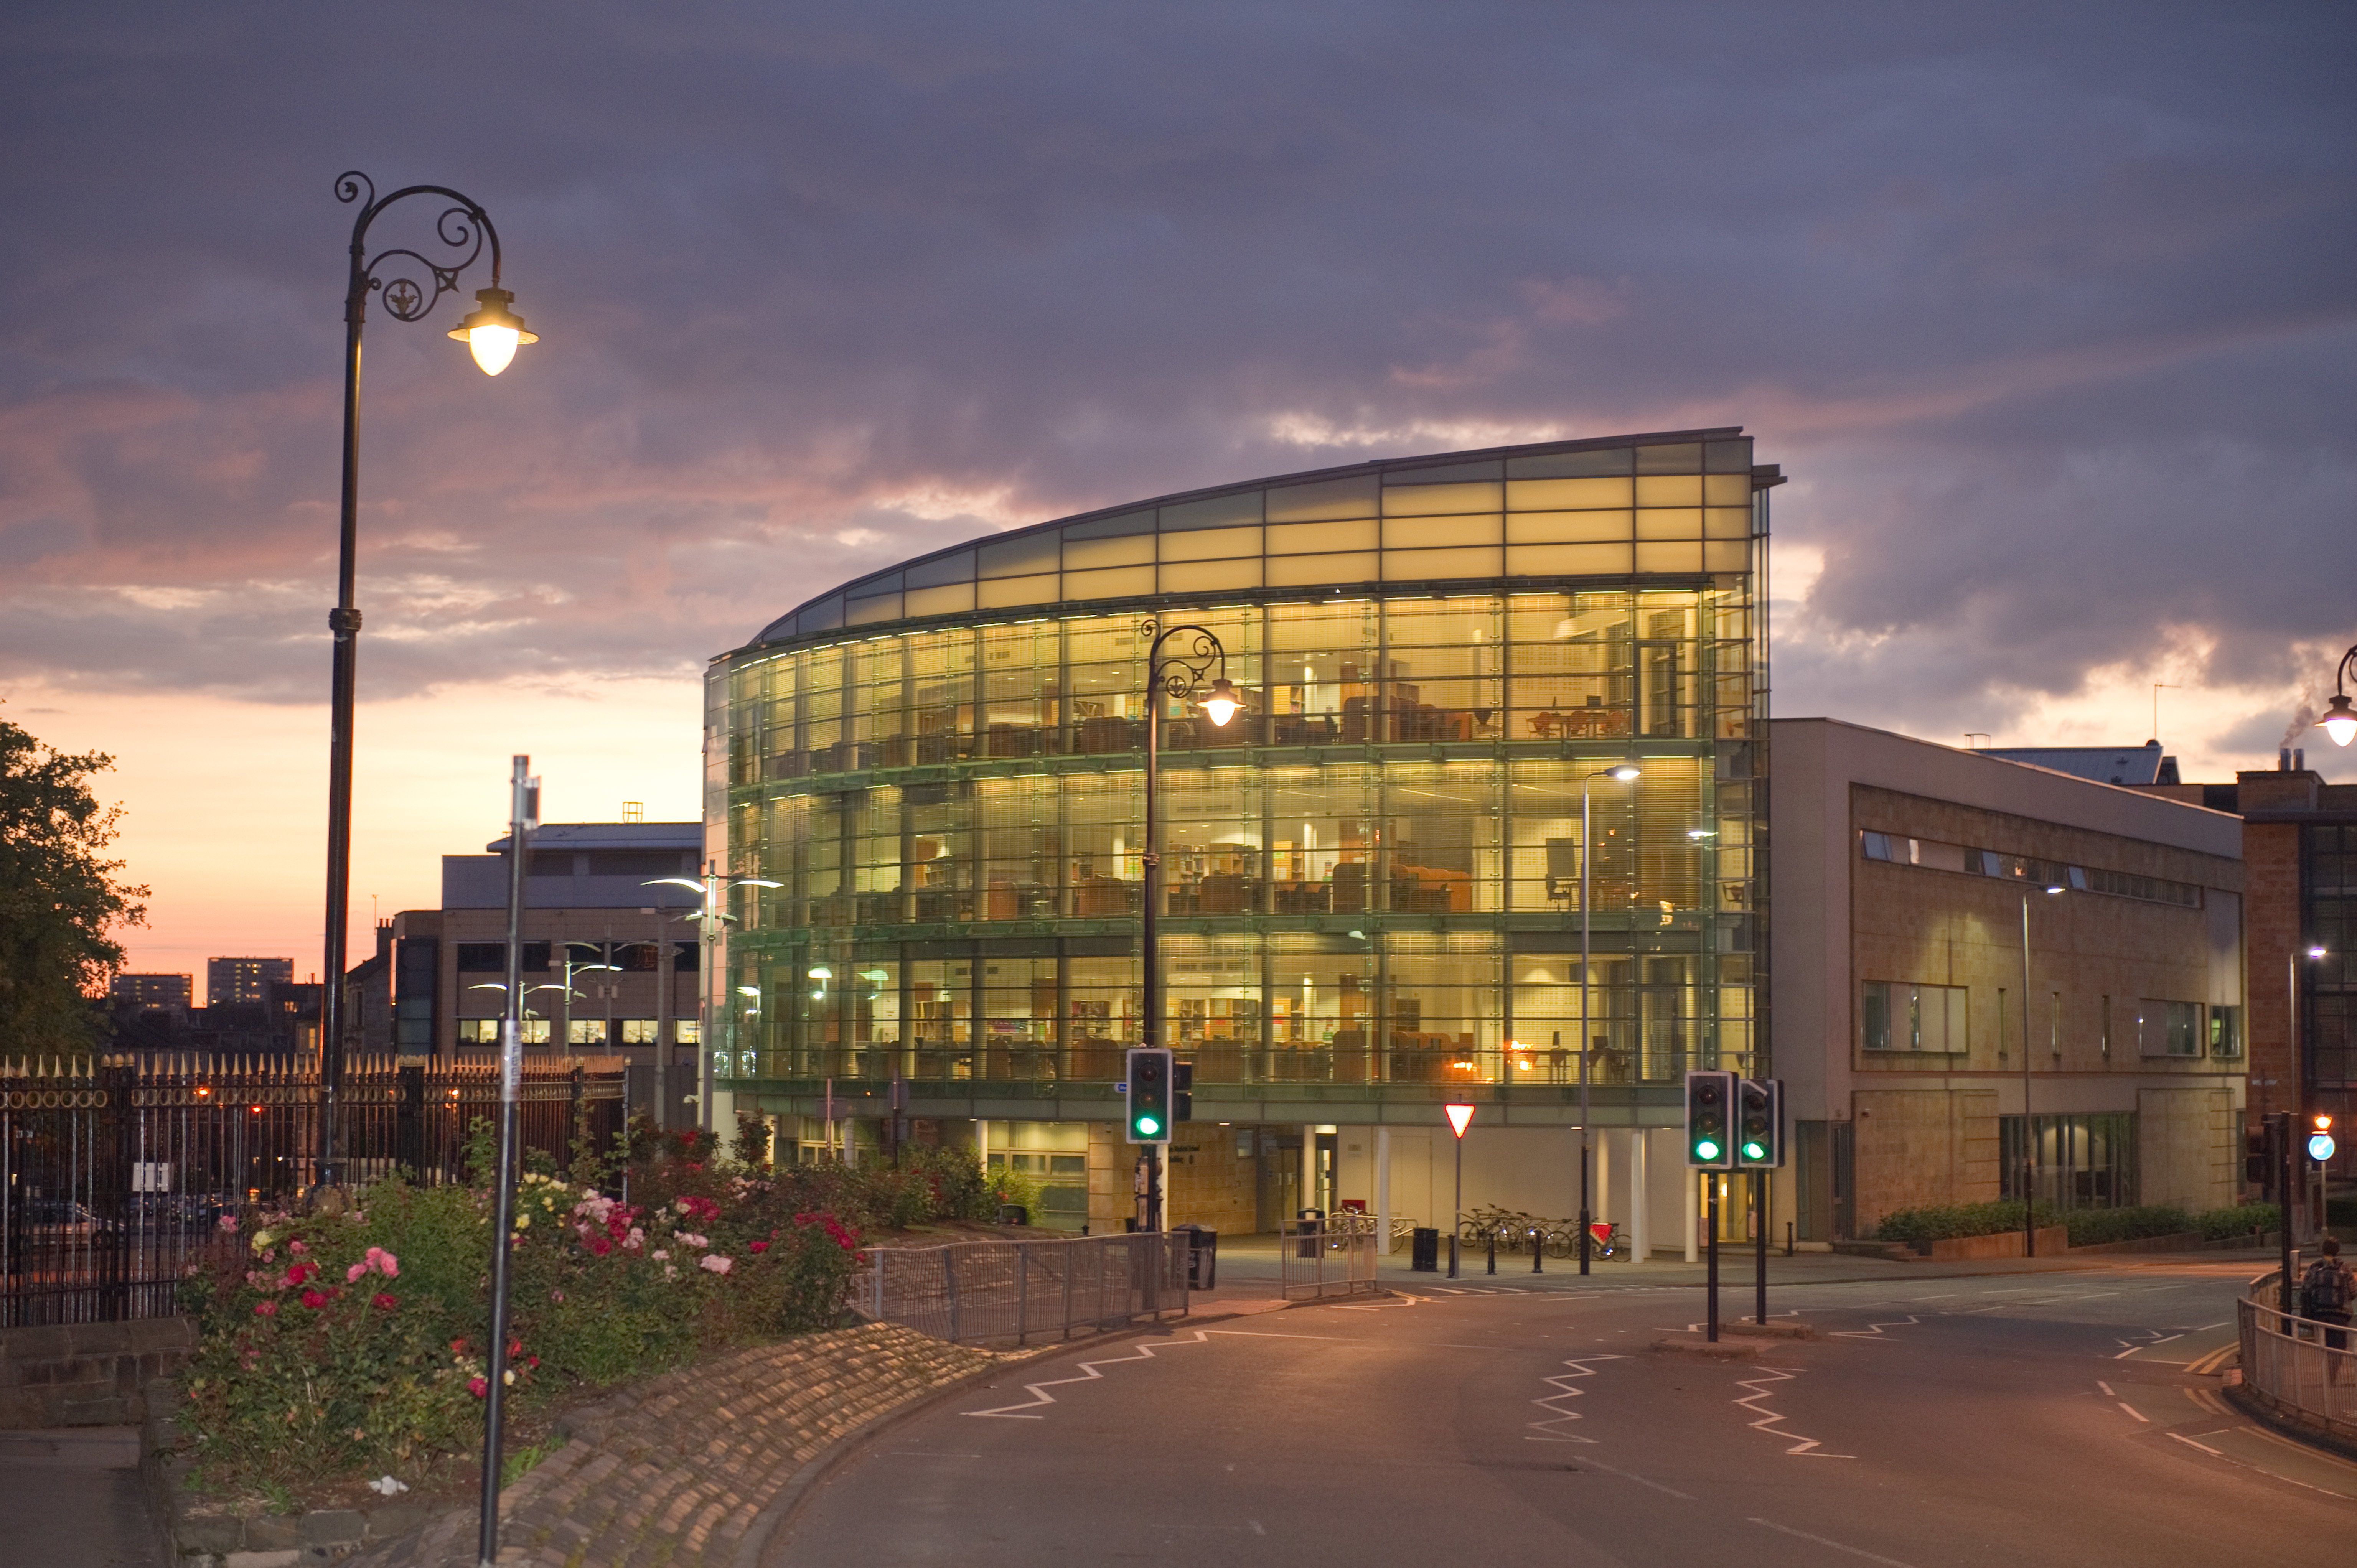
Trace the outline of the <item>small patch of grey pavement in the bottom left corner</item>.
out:
[[[12,1568],[163,1568],[134,1427],[0,1431],[0,1521]]]

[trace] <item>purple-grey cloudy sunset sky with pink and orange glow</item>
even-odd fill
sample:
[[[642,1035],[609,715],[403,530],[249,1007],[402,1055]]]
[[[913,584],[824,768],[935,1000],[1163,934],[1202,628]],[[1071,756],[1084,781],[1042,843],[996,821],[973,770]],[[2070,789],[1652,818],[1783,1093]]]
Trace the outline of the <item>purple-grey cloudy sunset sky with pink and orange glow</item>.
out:
[[[1631,429],[1791,474],[1777,712],[2265,766],[2357,641],[2352,80],[2343,2],[19,0],[0,712],[120,759],[134,967],[316,967],[358,167],[544,335],[370,325],[361,931],[509,752],[693,816],[700,663],[844,575]]]

